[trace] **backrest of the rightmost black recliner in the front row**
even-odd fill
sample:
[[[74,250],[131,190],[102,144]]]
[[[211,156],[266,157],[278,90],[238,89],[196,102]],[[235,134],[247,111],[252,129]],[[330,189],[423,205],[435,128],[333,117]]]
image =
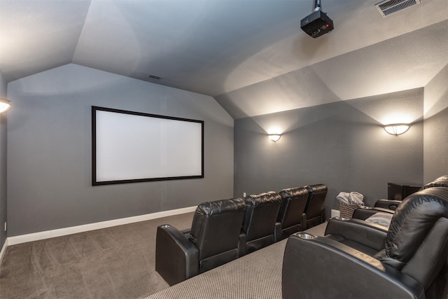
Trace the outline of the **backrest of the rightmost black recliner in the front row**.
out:
[[[305,214],[307,214],[307,228],[311,228],[325,222],[324,203],[328,188],[323,184],[305,186],[304,188],[307,188],[309,192]]]

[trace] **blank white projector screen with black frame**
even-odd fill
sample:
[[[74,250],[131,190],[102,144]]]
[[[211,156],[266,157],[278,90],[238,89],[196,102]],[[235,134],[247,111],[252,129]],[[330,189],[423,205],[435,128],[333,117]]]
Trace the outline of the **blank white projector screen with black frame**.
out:
[[[204,121],[92,106],[92,185],[204,177]]]

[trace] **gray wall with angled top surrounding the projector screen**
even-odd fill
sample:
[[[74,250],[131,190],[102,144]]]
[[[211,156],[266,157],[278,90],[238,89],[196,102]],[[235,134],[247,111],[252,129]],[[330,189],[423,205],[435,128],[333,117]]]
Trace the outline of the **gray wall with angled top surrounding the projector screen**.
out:
[[[13,81],[8,97],[8,236],[232,197],[233,119],[212,97],[76,64]],[[92,105],[204,120],[204,179],[91,186]]]

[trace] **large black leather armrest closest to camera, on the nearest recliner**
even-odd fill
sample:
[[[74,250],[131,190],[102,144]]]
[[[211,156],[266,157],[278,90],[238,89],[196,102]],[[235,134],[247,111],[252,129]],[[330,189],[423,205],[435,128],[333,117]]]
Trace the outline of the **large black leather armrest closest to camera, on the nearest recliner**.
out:
[[[412,277],[333,239],[305,232],[288,238],[281,287],[282,298],[415,299],[425,295]]]

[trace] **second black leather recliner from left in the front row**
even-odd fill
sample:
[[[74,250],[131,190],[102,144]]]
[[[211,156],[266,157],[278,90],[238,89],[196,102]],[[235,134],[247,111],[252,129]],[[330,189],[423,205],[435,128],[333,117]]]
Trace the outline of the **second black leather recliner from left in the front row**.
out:
[[[281,197],[279,193],[269,191],[249,195],[244,201],[246,214],[238,245],[241,256],[274,243],[275,223],[279,215]]]

